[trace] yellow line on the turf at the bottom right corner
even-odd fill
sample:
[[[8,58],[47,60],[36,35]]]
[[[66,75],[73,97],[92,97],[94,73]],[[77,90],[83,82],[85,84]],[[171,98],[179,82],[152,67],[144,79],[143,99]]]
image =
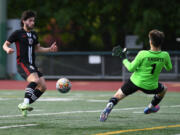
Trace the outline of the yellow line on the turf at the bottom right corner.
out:
[[[114,134],[127,133],[127,132],[159,130],[159,129],[176,128],[176,127],[180,127],[180,125],[159,126],[159,127],[142,128],[142,129],[127,129],[127,130],[119,130],[119,131],[112,131],[112,132],[106,132],[106,133],[98,133],[94,135],[114,135]]]

